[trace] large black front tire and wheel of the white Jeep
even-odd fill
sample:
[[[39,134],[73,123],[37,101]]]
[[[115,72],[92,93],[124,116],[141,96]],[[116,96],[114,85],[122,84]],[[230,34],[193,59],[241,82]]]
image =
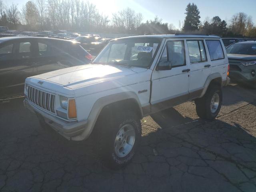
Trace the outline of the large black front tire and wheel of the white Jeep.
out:
[[[133,129],[134,132],[131,132],[134,133],[135,137],[125,137],[127,132],[124,132],[122,135],[121,129]],[[126,166],[129,164],[140,145],[141,134],[141,123],[136,113],[130,110],[114,114],[111,114],[109,111],[103,112],[103,115],[101,115],[96,122],[92,133],[95,143],[93,148],[96,160],[99,160],[104,166],[114,170]],[[119,140],[117,140],[117,138],[119,138]],[[133,138],[134,142],[132,142]],[[123,150],[123,153],[125,152],[123,156],[120,156],[122,150],[118,150],[119,147],[122,149],[121,145],[119,145],[121,142],[124,146],[126,146],[126,143],[133,143],[130,151]],[[115,144],[118,144],[116,145],[116,150]],[[128,149],[128,147],[123,147],[123,149]]]

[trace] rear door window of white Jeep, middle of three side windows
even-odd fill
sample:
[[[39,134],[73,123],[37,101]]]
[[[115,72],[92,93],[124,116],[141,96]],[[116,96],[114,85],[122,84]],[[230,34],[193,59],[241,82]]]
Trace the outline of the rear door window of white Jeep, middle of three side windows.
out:
[[[190,63],[206,61],[206,54],[202,40],[188,40],[187,44]]]

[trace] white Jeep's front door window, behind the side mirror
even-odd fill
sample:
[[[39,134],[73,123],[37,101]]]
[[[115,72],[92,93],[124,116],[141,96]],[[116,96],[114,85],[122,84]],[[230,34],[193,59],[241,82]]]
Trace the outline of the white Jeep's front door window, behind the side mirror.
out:
[[[170,69],[184,65],[186,65],[184,41],[168,41],[158,66],[165,66],[166,69]]]

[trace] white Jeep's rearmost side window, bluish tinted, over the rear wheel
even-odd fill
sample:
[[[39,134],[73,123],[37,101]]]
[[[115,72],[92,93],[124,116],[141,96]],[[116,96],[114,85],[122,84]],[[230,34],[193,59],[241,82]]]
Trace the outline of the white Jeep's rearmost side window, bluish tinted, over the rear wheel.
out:
[[[211,60],[224,59],[224,52],[219,40],[206,40]]]

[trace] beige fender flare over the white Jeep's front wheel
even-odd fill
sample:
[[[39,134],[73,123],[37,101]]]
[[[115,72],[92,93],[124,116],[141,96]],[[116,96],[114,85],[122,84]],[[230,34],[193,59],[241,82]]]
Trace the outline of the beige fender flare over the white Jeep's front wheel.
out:
[[[116,93],[108,96],[104,96],[99,98],[94,105],[92,106],[92,110],[87,118],[87,124],[84,132],[82,132],[81,135],[72,137],[72,140],[84,140],[87,139],[90,134],[92,133],[92,130],[94,128],[94,125],[96,124],[98,117],[102,111],[102,109],[112,103],[122,101],[122,100],[127,100],[127,99],[133,99],[137,104],[140,109],[141,116],[143,116],[143,111],[142,107],[140,104],[140,100],[138,96],[132,92],[121,92],[121,93]]]

